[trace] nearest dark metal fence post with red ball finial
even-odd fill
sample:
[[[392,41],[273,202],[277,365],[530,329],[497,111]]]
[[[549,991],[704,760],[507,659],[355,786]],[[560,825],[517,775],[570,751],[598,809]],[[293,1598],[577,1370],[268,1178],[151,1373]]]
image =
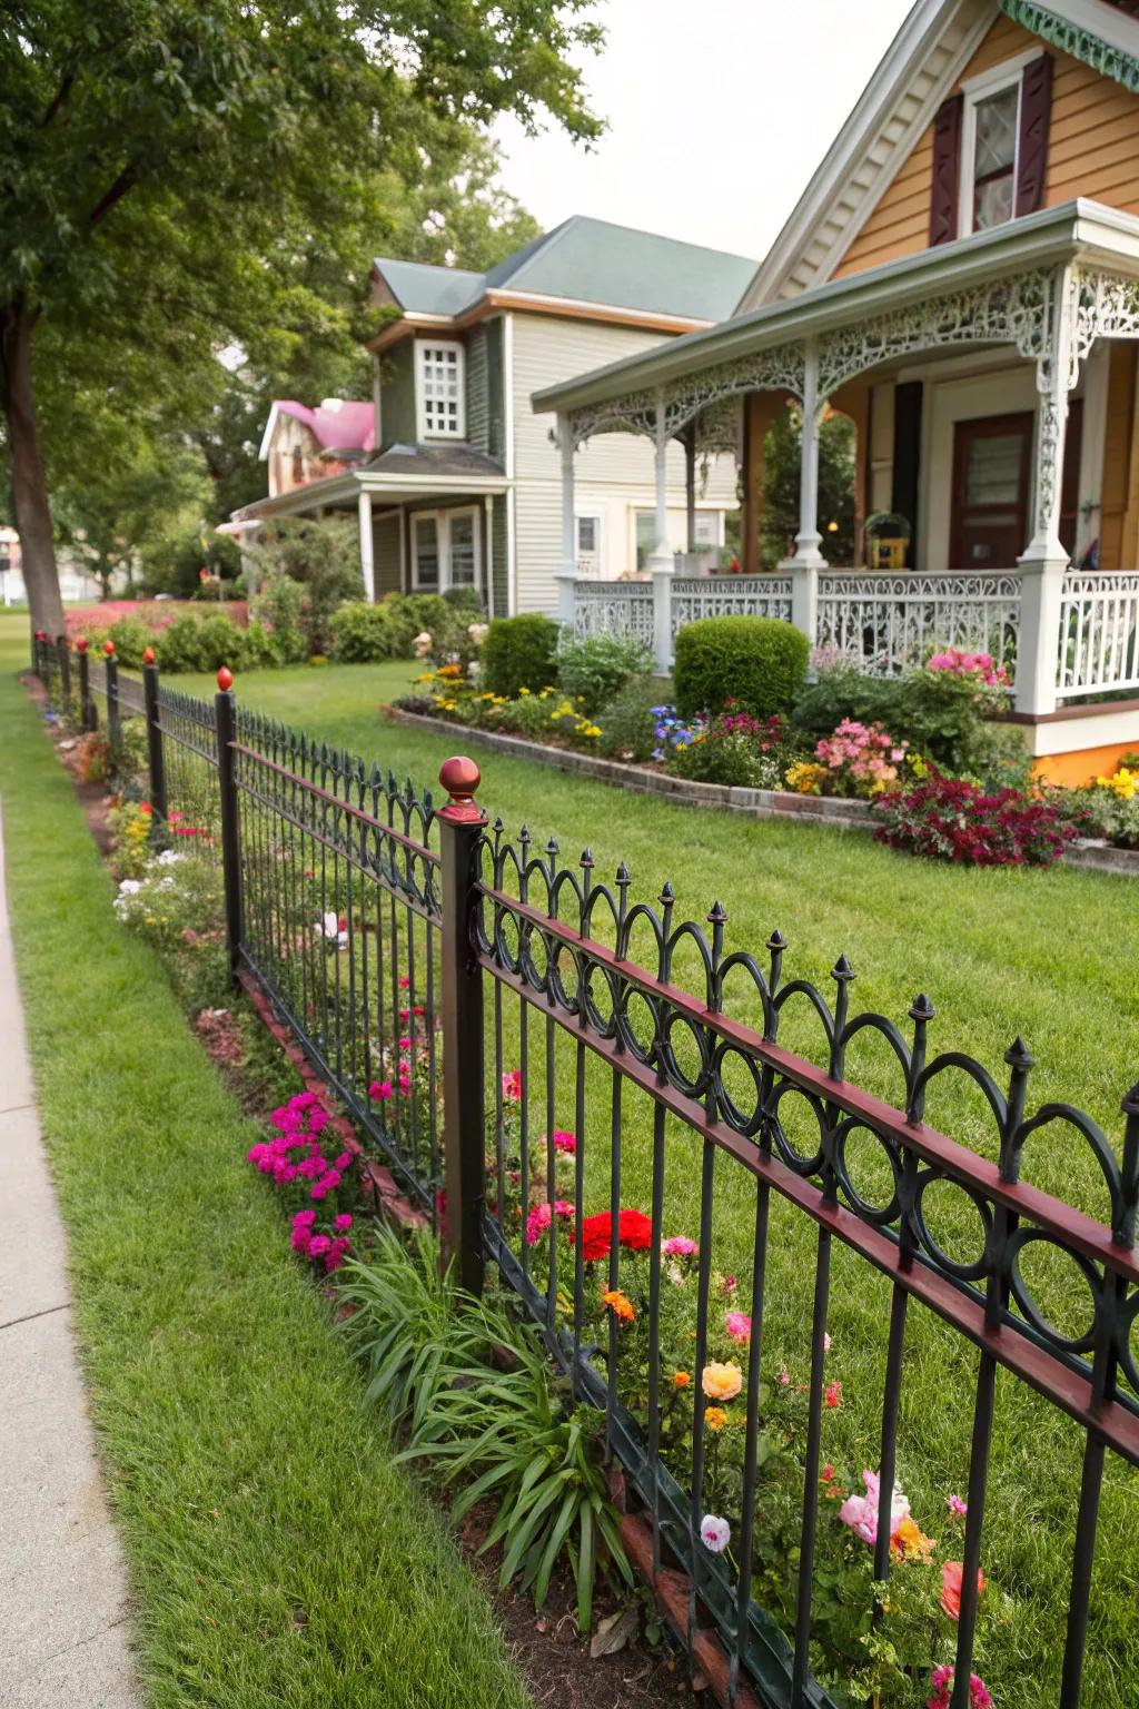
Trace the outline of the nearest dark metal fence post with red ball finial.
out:
[[[468,1294],[483,1290],[483,974],[475,954],[476,849],[487,815],[475,802],[473,759],[444,762],[439,781],[442,866],[442,1147],[446,1159],[444,1261]]]

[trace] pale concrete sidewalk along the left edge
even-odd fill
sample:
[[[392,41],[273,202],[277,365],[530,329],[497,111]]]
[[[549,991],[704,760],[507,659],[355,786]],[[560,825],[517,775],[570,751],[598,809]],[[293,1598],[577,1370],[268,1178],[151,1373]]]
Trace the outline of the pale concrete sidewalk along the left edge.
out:
[[[0,1179],[0,1709],[142,1709],[27,1061],[2,820]]]

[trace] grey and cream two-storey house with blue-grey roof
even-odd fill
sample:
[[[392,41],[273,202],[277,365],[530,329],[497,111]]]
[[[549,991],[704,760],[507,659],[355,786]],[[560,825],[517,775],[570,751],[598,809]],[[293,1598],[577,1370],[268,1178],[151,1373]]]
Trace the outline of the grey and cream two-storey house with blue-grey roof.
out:
[[[371,345],[374,449],[326,479],[270,487],[234,523],[353,509],[374,598],[475,586],[492,615],[555,612],[562,460],[531,393],[714,325],[753,272],[743,256],[582,217],[487,273],[377,260],[374,301],[400,313]],[[577,461],[577,573],[644,574],[654,506],[652,444],[591,438]],[[736,506],[734,455],[669,448],[668,542],[686,567],[719,562]]]

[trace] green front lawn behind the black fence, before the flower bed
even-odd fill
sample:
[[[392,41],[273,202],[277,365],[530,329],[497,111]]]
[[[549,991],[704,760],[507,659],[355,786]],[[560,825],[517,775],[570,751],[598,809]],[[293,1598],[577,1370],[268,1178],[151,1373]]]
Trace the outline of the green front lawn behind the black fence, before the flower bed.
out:
[[[439,764],[463,750],[463,735],[393,726],[379,702],[400,692],[406,667],[326,667],[251,673],[239,697],[272,716],[379,759],[396,774],[434,784]],[[190,684],[188,684],[190,685]],[[203,680],[203,687],[208,684]],[[763,962],[763,943],[779,926],[789,938],[786,978],[804,976],[832,991],[828,972],[845,952],[857,972],[852,1003],[879,1010],[907,1029],[905,1012],[919,991],[937,1015],[931,1049],[963,1049],[1004,1082],[1002,1056],[1021,1034],[1035,1058],[1030,1104],[1064,1099],[1100,1119],[1113,1142],[1122,1136],[1119,1101],[1136,1078],[1136,928],[1125,880],[1057,866],[958,870],[919,863],[864,836],[787,822],[753,822],[712,810],[673,807],[569,776],[534,762],[473,749],[483,771],[478,791],[490,813],[514,831],[528,822],[536,848],[553,832],[562,858],[584,846],[596,872],[611,877],[623,858],[634,897],[652,899],[669,878],[676,918],[700,919],[714,899],[729,916],[727,947],[745,947]],[[680,983],[693,976],[693,964]],[[755,1005],[743,1010],[755,1019]],[[545,1130],[543,1031],[531,1025],[531,1130]],[[806,1008],[787,1012],[786,1037],[820,1056],[818,1031]],[[505,1066],[517,1060],[517,1012],[505,1003]],[[558,1036],[558,1085],[569,1099],[569,1044]],[[883,1051],[856,1048],[849,1077],[885,1095],[898,1095],[897,1070]],[[558,1101],[558,1125],[572,1126],[572,1104]],[[934,1087],[927,1119],[992,1155],[996,1142],[982,1101],[963,1084]],[[608,1203],[610,1082],[589,1060],[586,1126],[587,1208]],[[649,1113],[625,1097],[623,1201],[647,1207]],[[862,1179],[881,1186],[883,1172],[864,1152]],[[1107,1217],[1095,1166],[1071,1133],[1050,1131],[1030,1145],[1025,1179]],[[949,1189],[931,1195],[931,1224],[958,1256],[977,1251],[972,1210]],[[669,1126],[666,1164],[669,1232],[697,1234],[698,1148]],[[714,1263],[722,1271],[750,1268],[753,1195],[743,1172],[721,1162],[716,1181]],[[779,1210],[768,1266],[767,1347],[772,1365],[806,1369],[815,1241],[797,1213]],[[1086,1316],[1086,1295],[1062,1260],[1026,1254],[1026,1278],[1052,1301],[1057,1321],[1072,1328]],[[835,1254],[830,1331],[832,1371],[844,1384],[844,1407],[825,1418],[825,1458],[857,1482],[861,1466],[878,1465],[879,1396],[888,1295],[850,1254]],[[915,1512],[931,1531],[944,1523],[949,1492],[961,1492],[975,1354],[937,1321],[915,1311],[902,1396],[900,1477]],[[1059,1682],[1071,1536],[1079,1489],[1079,1430],[1050,1413],[1013,1379],[1001,1377],[984,1564],[996,1596],[1006,1593],[1008,1625],[999,1630],[982,1671],[997,1702],[1052,1700]],[[1084,1700],[1096,1709],[1130,1709],[1139,1665],[1134,1588],[1139,1583],[1139,1502],[1132,1473],[1112,1465],[1103,1502],[1096,1601]],[[996,1606],[996,1603],[994,1603]],[[948,1659],[948,1658],[943,1658]],[[1040,1697],[1037,1695],[1040,1694]]]

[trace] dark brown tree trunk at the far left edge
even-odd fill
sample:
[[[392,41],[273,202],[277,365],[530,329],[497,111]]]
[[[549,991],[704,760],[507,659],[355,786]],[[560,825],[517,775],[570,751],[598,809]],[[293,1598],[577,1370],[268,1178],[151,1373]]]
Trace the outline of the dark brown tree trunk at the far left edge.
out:
[[[43,629],[48,636],[61,636],[63,600],[32,396],[34,323],[34,314],[22,299],[7,302],[0,309],[0,393],[12,460],[12,508],[20,537],[20,564],[32,627]]]

